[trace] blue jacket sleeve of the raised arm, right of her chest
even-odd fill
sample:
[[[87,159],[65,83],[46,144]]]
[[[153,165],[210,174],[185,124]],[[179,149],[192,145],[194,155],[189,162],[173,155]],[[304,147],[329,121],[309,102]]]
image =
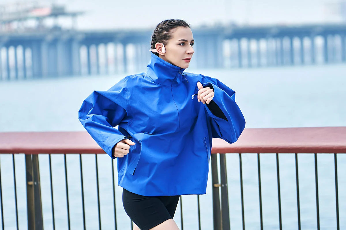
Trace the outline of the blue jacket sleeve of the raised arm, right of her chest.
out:
[[[209,80],[202,86],[214,90],[213,99],[209,104],[204,104],[211,117],[212,137],[234,143],[245,128],[243,113],[235,102],[235,91],[216,78],[209,78]]]

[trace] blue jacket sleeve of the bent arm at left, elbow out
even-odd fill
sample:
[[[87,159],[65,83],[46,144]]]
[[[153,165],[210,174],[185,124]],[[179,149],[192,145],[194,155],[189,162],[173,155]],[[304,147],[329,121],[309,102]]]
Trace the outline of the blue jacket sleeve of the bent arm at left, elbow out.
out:
[[[107,91],[93,91],[86,98],[78,115],[79,120],[90,136],[112,158],[112,148],[126,139],[117,126],[126,116],[126,88],[121,80]],[[123,105],[120,106],[120,105]]]

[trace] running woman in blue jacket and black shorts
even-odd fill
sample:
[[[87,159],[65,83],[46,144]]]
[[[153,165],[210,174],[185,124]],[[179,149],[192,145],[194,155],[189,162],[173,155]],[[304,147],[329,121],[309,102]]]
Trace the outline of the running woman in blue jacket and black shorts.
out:
[[[185,21],[160,22],[147,71],[94,91],[79,110],[85,129],[117,158],[123,205],[135,229],[179,229],[173,220],[179,196],[206,193],[212,138],[233,143],[245,127],[233,90],[183,72],[193,44]]]

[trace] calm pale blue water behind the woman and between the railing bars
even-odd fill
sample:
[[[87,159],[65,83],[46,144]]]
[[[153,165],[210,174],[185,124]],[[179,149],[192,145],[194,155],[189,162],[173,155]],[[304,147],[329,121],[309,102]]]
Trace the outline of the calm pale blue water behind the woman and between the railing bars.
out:
[[[346,126],[346,65],[264,69],[190,70],[216,77],[236,91],[236,101],[246,119],[246,128]],[[132,74],[132,73],[128,73]],[[79,131],[82,101],[93,90],[107,90],[126,74],[0,82],[0,131]],[[260,228],[257,156],[243,154],[246,229]],[[16,158],[19,227],[26,229],[24,155]],[[1,154],[1,179],[5,229],[15,229],[12,156]],[[83,179],[87,229],[98,229],[94,156],[83,156]],[[40,177],[44,228],[52,229],[48,156],[42,154]],[[56,229],[67,229],[63,155],[52,156]],[[114,229],[111,161],[99,155],[102,229]],[[299,156],[300,210],[302,229],[316,229],[314,159]],[[114,161],[116,163],[116,161]],[[264,229],[279,229],[275,154],[261,154]],[[318,155],[321,229],[336,229],[334,156]],[[280,155],[280,186],[283,229],[298,229],[294,155]],[[239,157],[227,154],[231,228],[242,229]],[[67,156],[71,228],[82,227],[82,204],[78,155]],[[115,172],[117,179],[117,173]],[[209,174],[209,179],[211,175]],[[346,229],[346,154],[338,154],[340,229]],[[116,185],[118,229],[129,229],[122,207],[122,188]],[[184,195],[184,229],[198,229],[197,196]],[[212,229],[211,181],[200,196],[202,229]],[[180,208],[174,217],[180,226]],[[1,220],[0,220],[1,221]]]

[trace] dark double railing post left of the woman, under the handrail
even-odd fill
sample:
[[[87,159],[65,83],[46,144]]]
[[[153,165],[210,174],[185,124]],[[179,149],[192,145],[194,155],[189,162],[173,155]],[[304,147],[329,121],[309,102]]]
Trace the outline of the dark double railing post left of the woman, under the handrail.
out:
[[[38,155],[25,155],[28,229],[43,230]]]

